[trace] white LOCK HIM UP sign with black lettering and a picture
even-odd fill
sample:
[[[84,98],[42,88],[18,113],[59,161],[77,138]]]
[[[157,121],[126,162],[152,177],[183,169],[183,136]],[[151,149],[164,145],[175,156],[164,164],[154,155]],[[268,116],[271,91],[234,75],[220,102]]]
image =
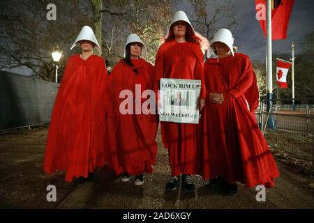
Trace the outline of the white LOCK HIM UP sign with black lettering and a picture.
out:
[[[160,121],[198,124],[197,101],[201,81],[195,79],[160,79],[158,114]]]

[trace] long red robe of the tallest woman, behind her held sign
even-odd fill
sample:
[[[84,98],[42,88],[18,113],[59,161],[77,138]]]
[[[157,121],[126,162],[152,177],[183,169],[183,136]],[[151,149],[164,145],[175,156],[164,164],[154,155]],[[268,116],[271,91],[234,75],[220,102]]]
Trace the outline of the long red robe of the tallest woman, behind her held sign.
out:
[[[164,43],[156,55],[156,89],[160,78],[200,79],[200,98],[205,99],[206,90],[203,74],[204,56],[195,43]],[[188,123],[161,122],[161,134],[165,148],[168,148],[172,176],[195,174],[197,125]]]

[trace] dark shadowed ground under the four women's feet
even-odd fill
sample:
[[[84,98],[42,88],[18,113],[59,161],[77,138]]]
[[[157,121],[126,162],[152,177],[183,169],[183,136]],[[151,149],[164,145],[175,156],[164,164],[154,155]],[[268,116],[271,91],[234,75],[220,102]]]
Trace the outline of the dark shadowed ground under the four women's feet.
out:
[[[122,183],[105,168],[98,170],[95,183],[65,183],[63,173],[47,176],[42,171],[46,135],[47,128],[0,134],[0,208],[314,208],[313,178],[281,163],[281,176],[267,190],[265,202],[257,202],[257,192],[242,185],[232,196],[213,192],[200,176],[193,176],[193,194],[181,188],[165,192],[170,167],[160,132],[154,174],[144,176],[144,185],[136,187],[133,178]],[[49,184],[57,187],[57,202],[46,201]]]

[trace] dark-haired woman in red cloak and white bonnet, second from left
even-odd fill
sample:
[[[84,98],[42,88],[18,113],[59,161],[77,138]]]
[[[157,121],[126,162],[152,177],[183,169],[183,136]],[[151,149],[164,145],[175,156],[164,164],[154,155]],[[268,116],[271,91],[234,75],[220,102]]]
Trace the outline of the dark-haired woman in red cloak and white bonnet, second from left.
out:
[[[130,34],[126,41],[125,58],[117,63],[107,82],[110,167],[117,175],[122,174],[123,182],[127,182],[131,174],[135,175],[135,185],[144,183],[144,173],[152,173],[158,148],[153,90],[149,98],[151,107],[148,111],[142,109],[149,101],[144,94],[154,89],[154,66],[142,59],[145,55],[146,48],[140,37]]]

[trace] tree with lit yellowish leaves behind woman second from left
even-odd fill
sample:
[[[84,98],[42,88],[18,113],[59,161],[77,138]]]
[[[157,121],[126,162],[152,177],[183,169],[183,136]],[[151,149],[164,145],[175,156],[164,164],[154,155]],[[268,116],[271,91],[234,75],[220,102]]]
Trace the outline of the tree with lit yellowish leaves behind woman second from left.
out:
[[[130,33],[137,33],[147,47],[147,60],[154,63],[160,38],[172,17],[169,1],[105,1],[103,42],[105,56],[116,63],[124,55],[124,44]]]

